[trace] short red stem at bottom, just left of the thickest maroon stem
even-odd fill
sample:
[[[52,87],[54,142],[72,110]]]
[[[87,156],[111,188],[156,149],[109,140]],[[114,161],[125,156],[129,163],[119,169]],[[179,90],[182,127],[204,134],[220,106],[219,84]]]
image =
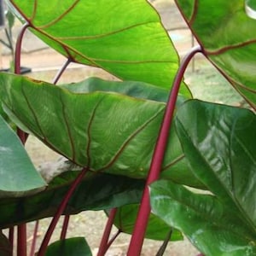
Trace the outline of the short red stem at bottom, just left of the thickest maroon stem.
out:
[[[116,215],[116,212],[117,212],[117,208],[113,208],[108,216],[108,222],[106,224],[106,227],[102,236],[102,241],[101,241],[97,256],[103,256],[108,251],[108,247],[110,246],[108,245],[108,240],[109,240],[110,232],[113,227],[113,220]]]

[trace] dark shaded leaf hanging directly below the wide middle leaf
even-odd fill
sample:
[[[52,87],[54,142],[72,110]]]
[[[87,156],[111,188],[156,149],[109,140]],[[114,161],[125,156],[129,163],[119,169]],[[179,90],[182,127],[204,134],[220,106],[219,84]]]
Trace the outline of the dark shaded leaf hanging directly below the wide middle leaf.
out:
[[[44,191],[20,198],[0,201],[0,228],[32,220],[53,217],[79,171],[64,172],[55,177]],[[129,177],[93,173],[76,188],[64,214],[86,210],[104,210],[141,201],[144,181]]]

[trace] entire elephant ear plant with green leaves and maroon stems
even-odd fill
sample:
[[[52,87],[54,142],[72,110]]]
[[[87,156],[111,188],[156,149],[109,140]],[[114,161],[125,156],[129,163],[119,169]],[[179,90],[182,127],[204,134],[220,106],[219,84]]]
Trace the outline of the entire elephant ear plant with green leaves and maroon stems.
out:
[[[256,20],[245,2],[176,1],[200,45],[180,64],[145,0],[7,3],[24,26],[16,74],[0,74],[0,228],[9,229],[0,254],[12,255],[17,226],[17,255],[26,256],[26,223],[37,220],[37,230],[52,217],[38,256],[92,255],[84,237],[66,238],[69,216],[104,210],[98,256],[122,232],[131,234],[130,256],[141,254],[144,238],[164,241],[163,255],[183,236],[202,254],[255,255]],[[19,75],[26,29],[67,57],[52,84]],[[183,74],[197,53],[248,108],[192,99]],[[55,85],[71,62],[120,81]],[[19,127],[20,140],[4,119]],[[67,158],[65,170],[38,174],[22,146],[30,133]],[[49,245],[61,215],[60,241]]]

